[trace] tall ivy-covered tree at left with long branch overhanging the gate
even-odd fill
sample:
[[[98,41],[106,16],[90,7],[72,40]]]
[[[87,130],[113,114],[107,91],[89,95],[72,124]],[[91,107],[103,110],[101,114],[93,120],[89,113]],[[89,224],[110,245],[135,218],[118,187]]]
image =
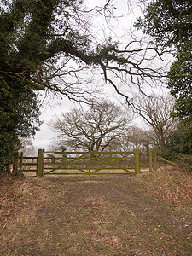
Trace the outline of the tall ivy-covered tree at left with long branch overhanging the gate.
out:
[[[106,0],[102,7],[94,9],[87,9],[81,0],[0,3],[1,146],[4,148],[1,168],[5,162],[9,165],[17,148],[18,134],[31,135],[38,127],[38,90],[52,90],[87,102],[91,87],[84,73],[95,68],[130,103],[119,89],[119,82],[141,88],[146,77],[160,78],[160,69],[148,66],[158,55],[156,48],[148,44],[141,47],[138,40],[122,46],[108,36],[103,44],[98,44],[93,38],[91,16],[102,15],[107,19],[113,16],[111,2]],[[6,99],[12,99],[9,106],[13,108],[6,106]]]

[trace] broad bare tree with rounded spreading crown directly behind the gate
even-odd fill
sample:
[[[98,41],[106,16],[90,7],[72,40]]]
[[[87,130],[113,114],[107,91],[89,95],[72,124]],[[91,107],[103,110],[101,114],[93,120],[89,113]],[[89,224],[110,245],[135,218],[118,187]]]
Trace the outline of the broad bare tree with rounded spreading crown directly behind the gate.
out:
[[[58,141],[70,149],[104,151],[131,127],[131,117],[113,102],[92,102],[89,109],[73,108],[50,126]]]

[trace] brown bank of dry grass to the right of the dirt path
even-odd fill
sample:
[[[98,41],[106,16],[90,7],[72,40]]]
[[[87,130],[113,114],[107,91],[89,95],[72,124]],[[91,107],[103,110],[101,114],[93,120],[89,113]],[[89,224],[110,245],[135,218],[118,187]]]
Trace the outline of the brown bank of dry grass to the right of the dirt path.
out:
[[[157,172],[134,178],[143,189],[176,207],[192,208],[192,173],[179,167],[161,167]]]

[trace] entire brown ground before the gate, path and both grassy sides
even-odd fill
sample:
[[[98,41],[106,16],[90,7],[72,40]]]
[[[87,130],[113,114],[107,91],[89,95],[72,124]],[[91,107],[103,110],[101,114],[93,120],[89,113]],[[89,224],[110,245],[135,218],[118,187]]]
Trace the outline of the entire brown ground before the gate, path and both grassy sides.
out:
[[[1,255],[191,255],[192,176],[176,167],[2,182]]]

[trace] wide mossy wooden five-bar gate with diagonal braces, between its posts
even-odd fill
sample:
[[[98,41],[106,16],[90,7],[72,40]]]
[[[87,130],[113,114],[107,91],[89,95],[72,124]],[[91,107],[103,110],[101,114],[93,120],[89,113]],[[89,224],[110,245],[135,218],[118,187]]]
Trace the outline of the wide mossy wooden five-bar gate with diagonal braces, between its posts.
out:
[[[134,169],[132,158],[121,152],[67,152],[64,156],[61,152],[44,152],[44,175],[130,174]]]

